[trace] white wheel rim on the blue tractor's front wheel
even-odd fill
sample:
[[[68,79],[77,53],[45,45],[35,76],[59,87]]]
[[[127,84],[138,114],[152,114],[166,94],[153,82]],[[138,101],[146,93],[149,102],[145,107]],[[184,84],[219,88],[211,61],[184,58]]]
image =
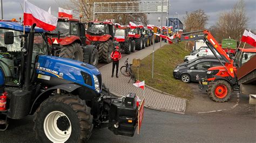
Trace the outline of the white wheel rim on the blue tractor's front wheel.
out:
[[[68,116],[60,111],[50,112],[44,119],[44,133],[52,142],[65,142],[69,139],[72,126]]]

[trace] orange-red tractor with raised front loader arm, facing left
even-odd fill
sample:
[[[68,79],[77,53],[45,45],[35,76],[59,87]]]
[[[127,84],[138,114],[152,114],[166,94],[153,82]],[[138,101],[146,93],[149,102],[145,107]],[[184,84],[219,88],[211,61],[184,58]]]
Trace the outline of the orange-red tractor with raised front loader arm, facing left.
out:
[[[234,60],[230,59],[224,49],[218,44],[217,40],[215,40],[213,35],[207,30],[175,34],[174,37],[176,40],[178,39],[178,41],[204,40],[208,48],[210,48],[215,57],[220,61],[222,66],[208,68],[207,78],[201,78],[200,80],[200,78],[197,77],[200,83],[199,88],[207,90],[208,96],[213,101],[226,102],[230,99],[232,91],[239,91],[237,61],[240,61],[240,58],[246,59],[246,56],[236,56]],[[221,62],[215,51],[224,59],[224,63]],[[250,55],[255,55],[256,53],[255,49],[246,49],[245,51],[250,53]],[[248,57],[248,54],[245,55]],[[247,60],[249,60],[249,58],[247,58]]]

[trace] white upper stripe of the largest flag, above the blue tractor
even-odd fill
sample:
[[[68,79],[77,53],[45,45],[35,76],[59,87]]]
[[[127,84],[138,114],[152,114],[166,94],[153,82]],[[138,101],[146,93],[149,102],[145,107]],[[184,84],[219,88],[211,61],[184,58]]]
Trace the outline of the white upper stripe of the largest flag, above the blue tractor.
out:
[[[57,26],[57,17],[51,15],[41,8],[38,8],[36,5],[33,5],[26,0],[24,1],[24,13],[32,14],[33,17],[41,20],[44,23]]]

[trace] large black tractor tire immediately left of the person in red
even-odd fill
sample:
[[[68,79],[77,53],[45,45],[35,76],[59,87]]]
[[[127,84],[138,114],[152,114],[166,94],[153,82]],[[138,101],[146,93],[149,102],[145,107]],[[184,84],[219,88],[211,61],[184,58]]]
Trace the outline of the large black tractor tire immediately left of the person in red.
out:
[[[113,52],[113,41],[111,39],[100,42],[99,44],[99,61],[104,63],[110,63],[112,61],[111,59],[111,53]]]

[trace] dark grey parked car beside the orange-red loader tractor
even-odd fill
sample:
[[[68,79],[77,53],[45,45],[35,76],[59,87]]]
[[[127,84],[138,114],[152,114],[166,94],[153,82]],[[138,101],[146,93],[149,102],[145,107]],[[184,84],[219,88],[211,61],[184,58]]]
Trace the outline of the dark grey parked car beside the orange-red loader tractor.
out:
[[[225,63],[223,59],[221,62]],[[202,78],[206,77],[207,69],[210,67],[221,66],[218,59],[214,58],[203,58],[190,62],[188,65],[180,66],[173,70],[173,77],[180,79],[185,83],[190,83],[191,81],[197,82],[197,75]]]

